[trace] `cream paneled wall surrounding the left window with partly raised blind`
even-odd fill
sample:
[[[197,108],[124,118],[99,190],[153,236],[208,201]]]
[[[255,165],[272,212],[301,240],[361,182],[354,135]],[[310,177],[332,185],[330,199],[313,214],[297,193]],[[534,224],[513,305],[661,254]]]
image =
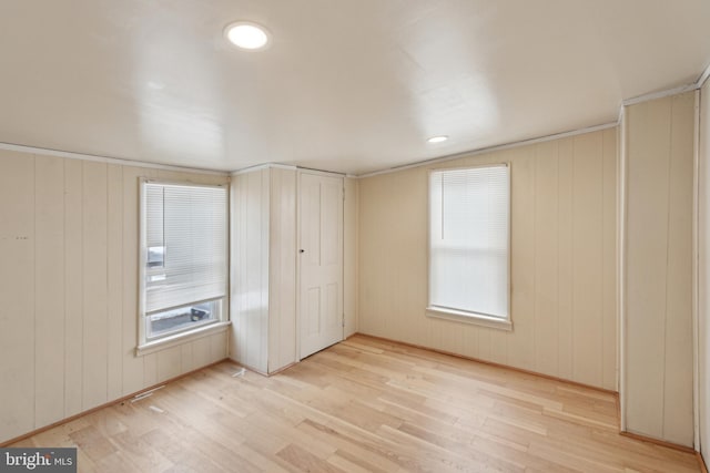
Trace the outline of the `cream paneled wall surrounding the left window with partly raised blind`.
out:
[[[0,151],[0,442],[226,357],[226,335],[135,357],[139,177]]]

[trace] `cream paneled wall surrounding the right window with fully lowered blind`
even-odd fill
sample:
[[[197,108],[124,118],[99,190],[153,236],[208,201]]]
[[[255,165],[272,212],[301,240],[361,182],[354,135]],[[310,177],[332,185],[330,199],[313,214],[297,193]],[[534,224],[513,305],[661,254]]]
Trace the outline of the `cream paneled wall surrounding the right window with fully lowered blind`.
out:
[[[358,330],[616,390],[617,130],[436,167],[500,162],[511,168],[514,330],[426,317],[424,166],[359,179]]]

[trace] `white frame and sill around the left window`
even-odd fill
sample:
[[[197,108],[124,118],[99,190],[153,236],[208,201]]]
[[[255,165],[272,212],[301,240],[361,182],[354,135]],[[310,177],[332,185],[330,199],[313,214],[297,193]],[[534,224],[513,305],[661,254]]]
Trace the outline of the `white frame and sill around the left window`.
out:
[[[148,202],[146,202],[146,185],[158,184],[168,186],[182,186],[182,187],[211,187],[223,188],[225,191],[225,213],[224,213],[224,228],[225,228],[225,241],[226,249],[224,255],[224,274],[225,274],[225,288],[224,296],[215,299],[209,299],[209,301],[221,301],[221,310],[215,320],[199,323],[195,327],[185,327],[175,331],[170,331],[162,336],[148,337],[148,330],[145,327],[146,318],[150,315],[145,312],[145,281],[148,276]],[[163,350],[173,346],[182,345],[186,341],[195,340],[202,337],[207,337],[216,332],[226,331],[230,322],[229,309],[230,309],[230,185],[225,184],[201,184],[189,181],[171,181],[150,177],[139,177],[139,281],[138,281],[138,345],[135,348],[135,356],[144,356],[155,351]],[[199,305],[205,302],[204,300],[195,300],[190,302],[191,305]],[[189,307],[179,306],[172,309]],[[171,308],[165,308],[164,311],[169,311]]]

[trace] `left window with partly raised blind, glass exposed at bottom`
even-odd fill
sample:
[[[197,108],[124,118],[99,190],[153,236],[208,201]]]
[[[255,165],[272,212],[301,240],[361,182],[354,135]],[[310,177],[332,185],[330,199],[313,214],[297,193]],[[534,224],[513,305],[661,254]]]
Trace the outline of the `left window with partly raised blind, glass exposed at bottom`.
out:
[[[142,183],[139,349],[224,320],[227,192]]]

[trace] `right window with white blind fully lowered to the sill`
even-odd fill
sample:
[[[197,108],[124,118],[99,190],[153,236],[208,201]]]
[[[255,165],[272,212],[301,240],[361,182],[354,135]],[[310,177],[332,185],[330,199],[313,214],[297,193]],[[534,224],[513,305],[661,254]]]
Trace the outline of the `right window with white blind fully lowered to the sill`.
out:
[[[508,166],[429,174],[429,307],[434,317],[510,329]]]

